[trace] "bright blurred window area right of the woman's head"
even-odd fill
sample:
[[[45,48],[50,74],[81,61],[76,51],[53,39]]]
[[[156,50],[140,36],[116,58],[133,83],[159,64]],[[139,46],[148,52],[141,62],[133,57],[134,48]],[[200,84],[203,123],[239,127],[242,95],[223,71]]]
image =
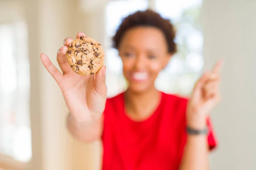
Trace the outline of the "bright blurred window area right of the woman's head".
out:
[[[155,10],[175,25],[178,52],[159,75],[156,86],[167,93],[189,95],[202,71],[202,0],[155,0]]]

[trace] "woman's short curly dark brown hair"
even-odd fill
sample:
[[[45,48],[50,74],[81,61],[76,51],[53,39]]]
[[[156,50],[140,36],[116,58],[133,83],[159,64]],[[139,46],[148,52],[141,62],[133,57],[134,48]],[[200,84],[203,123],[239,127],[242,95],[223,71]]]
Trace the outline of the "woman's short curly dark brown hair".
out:
[[[174,42],[175,29],[170,20],[164,19],[155,11],[150,9],[145,11],[137,11],[134,14],[130,14],[122,20],[121,25],[116,31],[113,37],[113,47],[118,49],[119,44],[122,40],[123,35],[128,29],[138,26],[151,26],[159,28],[165,35],[166,42],[168,45],[168,52],[175,54],[177,46]]]

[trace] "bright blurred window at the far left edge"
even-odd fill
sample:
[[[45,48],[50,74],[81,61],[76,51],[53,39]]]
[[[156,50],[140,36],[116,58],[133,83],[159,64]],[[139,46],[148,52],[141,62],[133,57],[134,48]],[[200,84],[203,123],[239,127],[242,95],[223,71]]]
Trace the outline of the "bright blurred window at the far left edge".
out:
[[[26,31],[23,22],[0,25],[0,153],[22,162],[32,157]]]

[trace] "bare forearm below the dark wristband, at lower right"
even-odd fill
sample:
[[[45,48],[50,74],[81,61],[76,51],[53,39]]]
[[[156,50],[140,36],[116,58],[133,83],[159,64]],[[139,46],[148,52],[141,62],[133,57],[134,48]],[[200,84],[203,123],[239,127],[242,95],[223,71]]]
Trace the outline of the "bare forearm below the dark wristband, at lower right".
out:
[[[188,135],[179,170],[209,170],[206,135]]]

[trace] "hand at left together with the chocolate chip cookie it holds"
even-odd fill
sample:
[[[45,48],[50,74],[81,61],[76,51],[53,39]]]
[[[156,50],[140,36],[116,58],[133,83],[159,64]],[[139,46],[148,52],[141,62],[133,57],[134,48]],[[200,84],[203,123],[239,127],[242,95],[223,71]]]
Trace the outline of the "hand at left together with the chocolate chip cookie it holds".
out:
[[[41,54],[44,67],[61,88],[67,107],[77,122],[97,119],[105,109],[107,86],[102,45],[82,32],[66,38],[57,52],[58,65]]]

